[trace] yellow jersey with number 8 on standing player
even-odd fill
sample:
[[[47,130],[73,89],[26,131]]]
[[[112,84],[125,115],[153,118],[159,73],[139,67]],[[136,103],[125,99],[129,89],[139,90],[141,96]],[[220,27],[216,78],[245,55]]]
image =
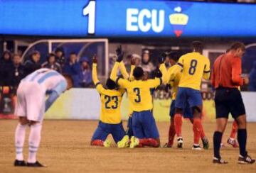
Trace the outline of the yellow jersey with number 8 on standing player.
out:
[[[179,87],[200,90],[202,78],[209,79],[210,77],[210,60],[198,52],[187,53],[180,57],[173,71],[174,75],[171,80],[178,72],[181,72]]]

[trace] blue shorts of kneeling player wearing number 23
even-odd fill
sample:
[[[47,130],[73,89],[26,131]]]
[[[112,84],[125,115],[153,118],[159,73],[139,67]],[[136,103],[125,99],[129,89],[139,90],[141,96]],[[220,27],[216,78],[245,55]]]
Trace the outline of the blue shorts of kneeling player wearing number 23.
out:
[[[99,122],[95,133],[92,135],[92,140],[103,140],[107,139],[108,135],[112,135],[114,142],[117,143],[119,140],[124,138],[125,132],[122,123],[119,124],[108,124]]]

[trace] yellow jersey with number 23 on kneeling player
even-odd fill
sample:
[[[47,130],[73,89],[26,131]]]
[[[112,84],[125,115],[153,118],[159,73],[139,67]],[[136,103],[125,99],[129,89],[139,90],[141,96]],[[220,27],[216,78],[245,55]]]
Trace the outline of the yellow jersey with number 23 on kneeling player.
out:
[[[97,65],[92,65],[92,80],[100,93],[100,121],[102,123],[121,123],[121,102],[124,89],[105,89],[97,79]]]

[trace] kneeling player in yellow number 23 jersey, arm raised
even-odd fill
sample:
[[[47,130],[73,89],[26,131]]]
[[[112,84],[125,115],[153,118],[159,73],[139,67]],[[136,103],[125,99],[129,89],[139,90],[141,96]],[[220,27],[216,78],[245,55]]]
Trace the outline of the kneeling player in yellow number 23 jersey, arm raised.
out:
[[[124,89],[118,89],[117,84],[111,79],[107,79],[105,89],[97,79],[97,57],[93,57],[92,65],[92,80],[96,86],[97,91],[100,93],[101,112],[100,122],[92,135],[91,145],[110,147],[110,140],[106,140],[108,135],[112,135],[114,142],[118,143],[119,140],[125,135],[124,128],[121,121],[121,101]],[[127,145],[129,138],[127,139]]]

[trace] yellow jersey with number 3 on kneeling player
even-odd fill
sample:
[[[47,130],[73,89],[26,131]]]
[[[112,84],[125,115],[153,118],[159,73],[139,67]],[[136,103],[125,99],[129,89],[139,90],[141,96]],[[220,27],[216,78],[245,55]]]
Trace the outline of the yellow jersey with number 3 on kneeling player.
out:
[[[122,88],[127,90],[129,100],[132,104],[133,111],[148,111],[153,108],[152,96],[150,89],[156,88],[162,82],[161,78],[129,81],[127,79],[117,78],[117,67],[119,63],[116,62],[110,79],[114,80]]]

